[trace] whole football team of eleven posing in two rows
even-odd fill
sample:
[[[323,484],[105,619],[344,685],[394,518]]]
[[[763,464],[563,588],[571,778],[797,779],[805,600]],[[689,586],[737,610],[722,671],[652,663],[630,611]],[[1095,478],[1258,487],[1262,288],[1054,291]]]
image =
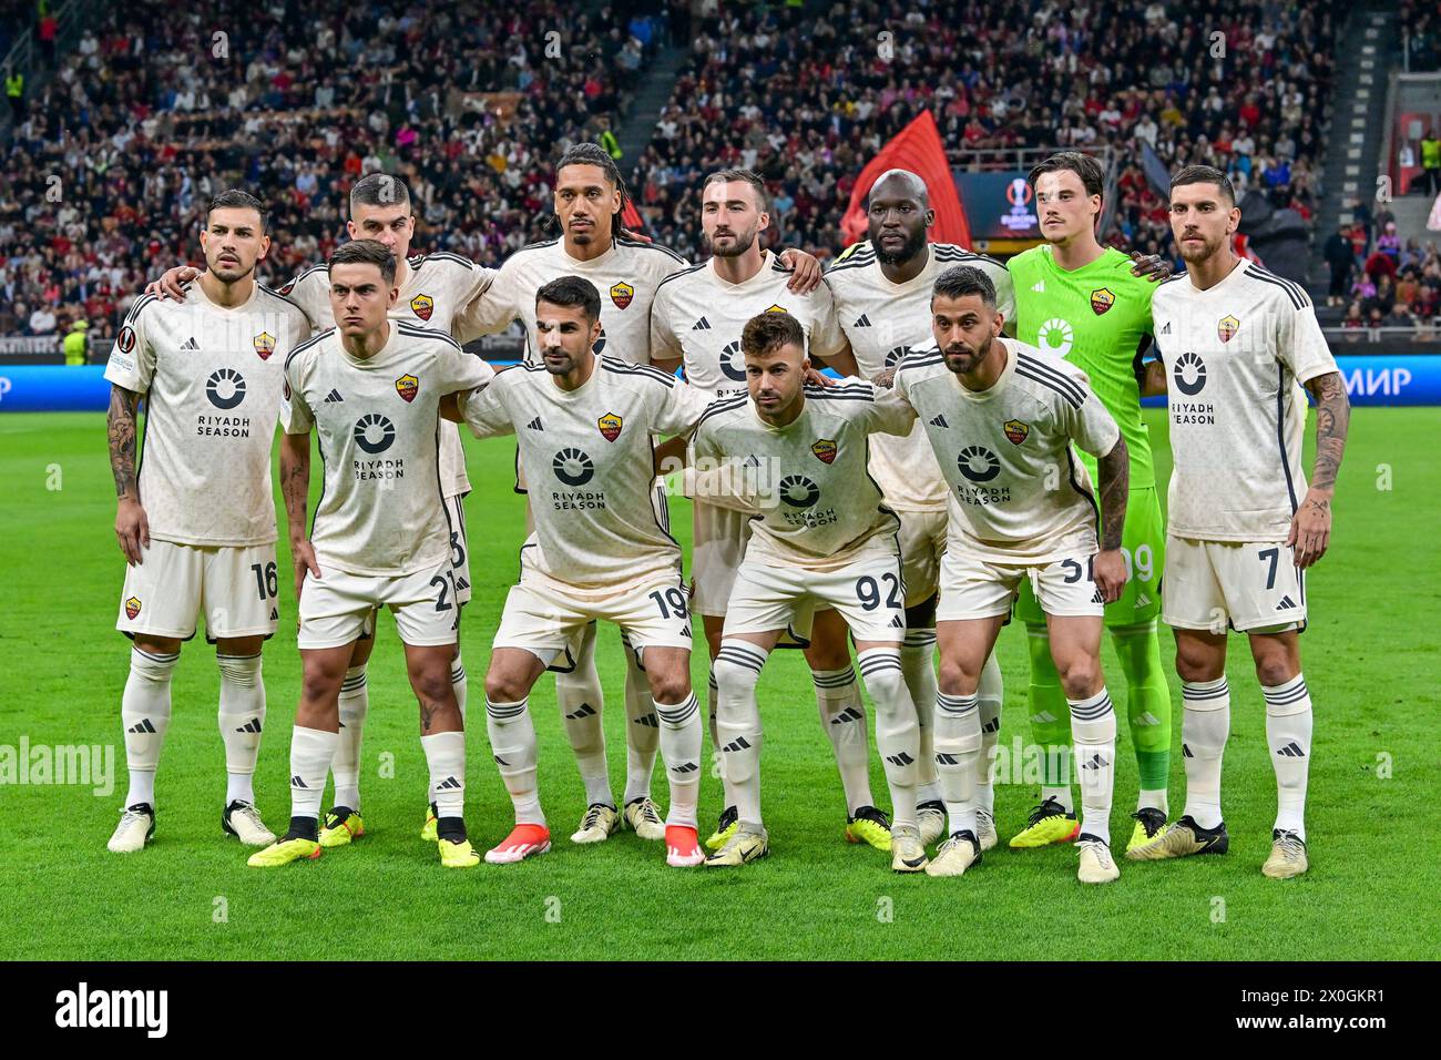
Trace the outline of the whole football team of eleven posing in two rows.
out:
[[[1307,871],[1311,698],[1298,635],[1346,444],[1336,362],[1304,290],[1235,254],[1241,212],[1219,170],[1172,177],[1186,262],[1176,275],[1160,258],[1099,245],[1104,173],[1089,156],[1055,154],[1029,180],[1045,242],[1007,264],[928,242],[925,183],[893,169],[869,192],[869,238],[821,270],[798,249],[764,249],[764,182],[722,170],[697,190],[710,257],[690,264],[621,226],[615,163],[578,144],[555,170],[561,237],[491,270],[412,254],[409,192],[372,173],[350,190],[350,241],[275,290],[255,280],[269,249],[265,206],[244,190],[215,198],[203,267],[147,287],[105,369],[127,561],[117,627],[133,640],[121,699],[130,786],[110,849],[137,852],[154,835],[170,681],[202,614],[220,669],[225,832],[258,848],[255,867],[362,838],[366,668],[388,609],[429,767],[416,793],[421,836],[445,867],[550,849],[527,704],[548,669],[586,793],[574,842],[631,828],[674,867],[765,857],[757,689],[769,653],[791,646],[810,666],[834,750],[846,838],[889,852],[898,873],[961,875],[999,841],[993,652],[1014,617],[1045,776],[1012,847],[1074,842],[1082,883],[1120,875],[1110,829],[1118,723],[1099,661],[1108,630],[1138,773],[1125,857],[1223,854],[1235,629],[1262,686],[1275,770],[1262,871]],[[517,320],[520,363],[496,371],[464,352]],[[1310,480],[1300,466],[1307,391],[1317,404]],[[1147,394],[1167,395],[1164,519]],[[277,425],[303,662],[280,836],[252,786],[267,712],[261,649],[285,581]],[[484,854],[464,821],[470,482],[458,425],[514,437],[527,508],[519,581],[484,678],[488,750],[514,826]],[[311,436],[323,487],[307,512]],[[657,477],[682,466],[695,518],[689,581]],[[598,622],[621,630],[635,723],[621,799],[601,728]],[[1174,819],[1159,622],[1174,632],[1185,708]],[[696,632],[725,796],[705,841]],[[889,816],[870,792],[860,684]],[[664,813],[650,793],[657,753]]]

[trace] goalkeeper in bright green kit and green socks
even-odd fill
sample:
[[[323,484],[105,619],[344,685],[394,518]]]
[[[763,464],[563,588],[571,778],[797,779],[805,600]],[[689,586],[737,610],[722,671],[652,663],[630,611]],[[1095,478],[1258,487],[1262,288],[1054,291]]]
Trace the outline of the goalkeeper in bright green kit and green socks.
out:
[[[1125,714],[1140,773],[1136,828],[1127,849],[1148,842],[1166,826],[1170,773],[1170,688],[1161,668],[1156,623],[1160,614],[1166,535],[1137,374],[1151,340],[1151,291],[1170,274],[1169,264],[1137,275],[1133,260],[1097,241],[1105,175],[1088,154],[1062,151],[1030,170],[1040,234],[1046,239],[1010,260],[1016,287],[1016,337],[1065,358],[1091,378],[1091,389],[1121,428],[1131,454],[1131,490],[1121,551],[1130,581],[1105,609],[1105,626],[1125,673]],[[1154,260],[1153,260],[1154,261]],[[1095,482],[1095,461],[1084,460]],[[1072,487],[1061,469],[1061,489]],[[1046,636],[1046,619],[1029,583],[1014,614],[1026,623],[1030,649],[1027,705],[1032,734],[1045,750],[1040,803],[1010,845],[1045,847],[1075,838],[1071,798],[1071,717]]]

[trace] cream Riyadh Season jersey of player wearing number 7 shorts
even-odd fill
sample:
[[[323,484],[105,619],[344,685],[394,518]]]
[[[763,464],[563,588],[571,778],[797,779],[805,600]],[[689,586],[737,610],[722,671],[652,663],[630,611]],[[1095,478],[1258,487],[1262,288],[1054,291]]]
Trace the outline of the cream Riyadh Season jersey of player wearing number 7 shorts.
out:
[[[1241,261],[1209,290],[1172,277],[1151,299],[1174,456],[1167,531],[1284,541],[1306,496],[1301,384],[1336,359],[1300,284]]]

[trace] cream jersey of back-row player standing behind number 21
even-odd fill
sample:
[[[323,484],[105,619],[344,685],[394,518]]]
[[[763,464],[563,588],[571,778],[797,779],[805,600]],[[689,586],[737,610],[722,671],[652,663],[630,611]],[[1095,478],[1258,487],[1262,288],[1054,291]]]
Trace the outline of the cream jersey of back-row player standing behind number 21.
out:
[[[455,317],[474,303],[496,278],[496,270],[477,265],[458,254],[412,254],[406,258],[409,273],[401,286],[401,296],[391,310],[392,320],[408,320],[438,332],[452,332]],[[324,262],[301,271],[280,293],[304,310],[317,332],[336,326],[330,307],[330,267]],[[441,425],[441,480],[445,496],[470,492],[465,474],[465,450],[460,444],[455,424]]]

